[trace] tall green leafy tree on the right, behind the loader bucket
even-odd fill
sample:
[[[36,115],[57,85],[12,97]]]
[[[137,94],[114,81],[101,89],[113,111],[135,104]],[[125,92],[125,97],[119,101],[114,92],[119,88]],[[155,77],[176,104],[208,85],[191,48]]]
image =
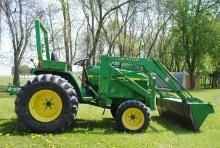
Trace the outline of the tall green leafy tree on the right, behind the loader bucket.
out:
[[[191,89],[195,87],[194,76],[199,59],[206,53],[210,53],[216,44],[213,44],[212,20],[214,9],[219,1],[201,0],[175,0],[172,8],[175,10],[175,31],[179,32],[176,40],[180,41],[184,51],[187,71],[190,75]]]

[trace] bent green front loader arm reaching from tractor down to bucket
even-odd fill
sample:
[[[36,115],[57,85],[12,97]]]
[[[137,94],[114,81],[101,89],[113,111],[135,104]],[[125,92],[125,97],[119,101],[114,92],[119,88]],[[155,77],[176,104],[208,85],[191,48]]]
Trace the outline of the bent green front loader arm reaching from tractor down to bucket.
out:
[[[157,60],[153,58],[121,58],[121,57],[108,57],[103,56],[101,59],[100,77],[102,79],[110,79],[110,71],[117,71],[112,65],[112,62],[134,64],[144,68],[144,72],[151,78],[151,73],[157,74],[164,82],[175,92],[182,101],[192,100],[193,97],[178,83],[176,78]],[[106,67],[106,65],[109,65]],[[119,71],[118,71],[119,72]],[[122,75],[122,74],[121,74]],[[106,94],[108,92],[109,83],[100,81],[100,85],[105,86],[101,88],[101,92]],[[155,88],[156,89],[156,88]],[[157,90],[159,91],[159,90]],[[144,92],[144,91],[143,91]],[[145,91],[146,92],[146,91]],[[161,93],[160,93],[161,94]]]

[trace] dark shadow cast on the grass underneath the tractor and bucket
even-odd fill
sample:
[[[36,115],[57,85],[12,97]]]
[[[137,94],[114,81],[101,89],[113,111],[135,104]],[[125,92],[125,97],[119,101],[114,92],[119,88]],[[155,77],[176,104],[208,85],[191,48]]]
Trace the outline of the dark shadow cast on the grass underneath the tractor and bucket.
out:
[[[150,124],[148,132],[168,132],[171,131],[176,135],[179,134],[195,134],[194,131],[188,130],[186,128],[181,127],[177,123],[174,123],[171,120],[167,120],[165,118],[161,118],[159,116],[153,116],[152,120],[157,122],[161,127],[154,127],[153,124]],[[3,135],[29,135],[27,130],[25,130],[21,123],[17,120],[9,120],[9,119],[0,119],[0,133]],[[112,118],[103,118],[102,120],[86,120],[86,119],[77,119],[75,123],[75,128],[69,127],[65,133],[71,134],[120,134],[122,132],[118,132],[116,130],[115,121]],[[200,133],[200,132],[197,132]],[[62,134],[62,133],[56,133]]]

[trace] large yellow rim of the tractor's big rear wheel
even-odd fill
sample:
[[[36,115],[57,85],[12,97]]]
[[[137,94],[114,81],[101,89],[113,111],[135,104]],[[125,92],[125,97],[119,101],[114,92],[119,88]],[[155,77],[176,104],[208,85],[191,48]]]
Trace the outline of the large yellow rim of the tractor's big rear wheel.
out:
[[[60,115],[62,99],[53,90],[39,90],[30,98],[29,110],[37,121],[50,122]]]

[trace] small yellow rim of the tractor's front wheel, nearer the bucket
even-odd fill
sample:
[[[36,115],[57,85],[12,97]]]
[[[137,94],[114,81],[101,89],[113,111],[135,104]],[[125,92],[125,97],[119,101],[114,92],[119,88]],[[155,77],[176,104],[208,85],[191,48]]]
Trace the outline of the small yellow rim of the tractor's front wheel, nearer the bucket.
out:
[[[138,108],[128,108],[122,115],[122,122],[129,130],[138,130],[144,124],[144,113]]]

